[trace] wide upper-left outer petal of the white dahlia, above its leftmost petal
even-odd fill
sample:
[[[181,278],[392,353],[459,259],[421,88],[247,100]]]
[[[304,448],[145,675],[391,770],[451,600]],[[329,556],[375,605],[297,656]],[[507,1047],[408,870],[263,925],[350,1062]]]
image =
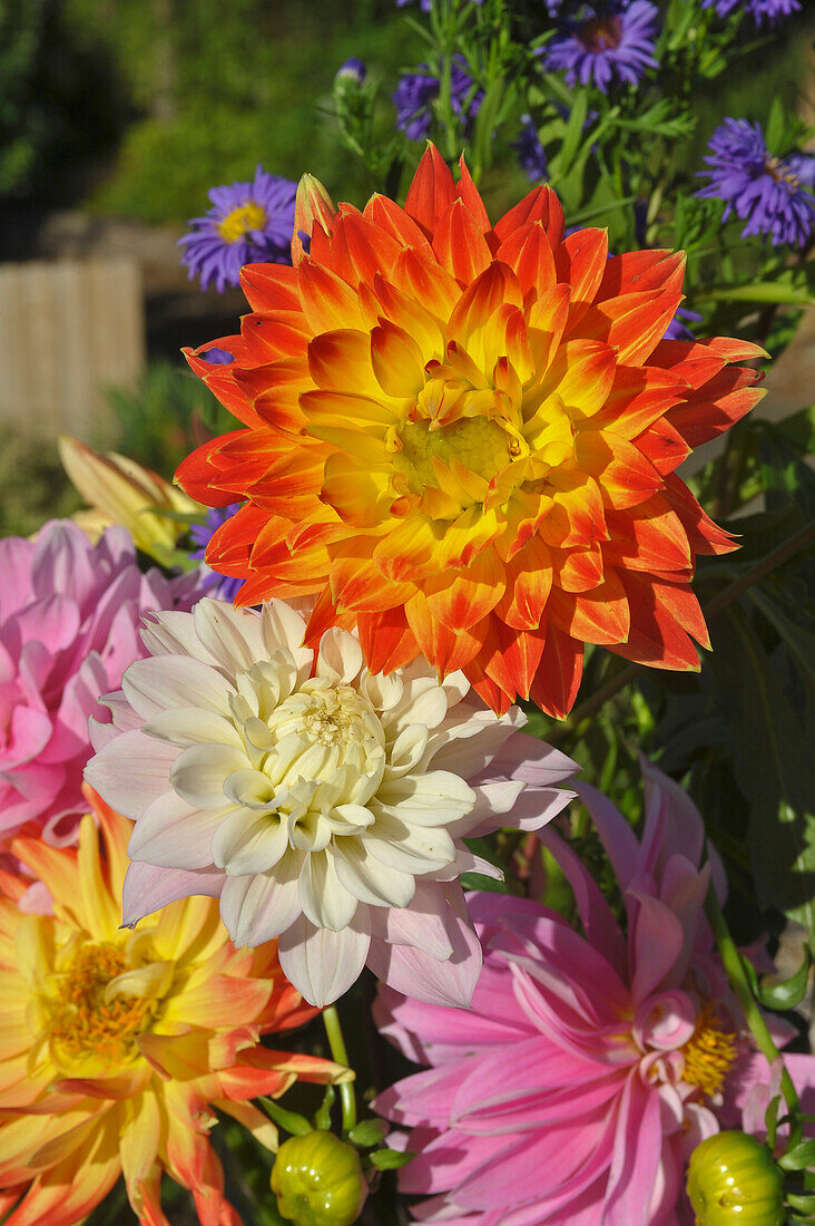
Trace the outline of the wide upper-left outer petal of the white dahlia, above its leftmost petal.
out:
[[[230,715],[234,688],[210,664],[189,656],[156,656],[137,660],[125,669],[121,688],[130,705],[150,720],[159,711],[196,706]]]

